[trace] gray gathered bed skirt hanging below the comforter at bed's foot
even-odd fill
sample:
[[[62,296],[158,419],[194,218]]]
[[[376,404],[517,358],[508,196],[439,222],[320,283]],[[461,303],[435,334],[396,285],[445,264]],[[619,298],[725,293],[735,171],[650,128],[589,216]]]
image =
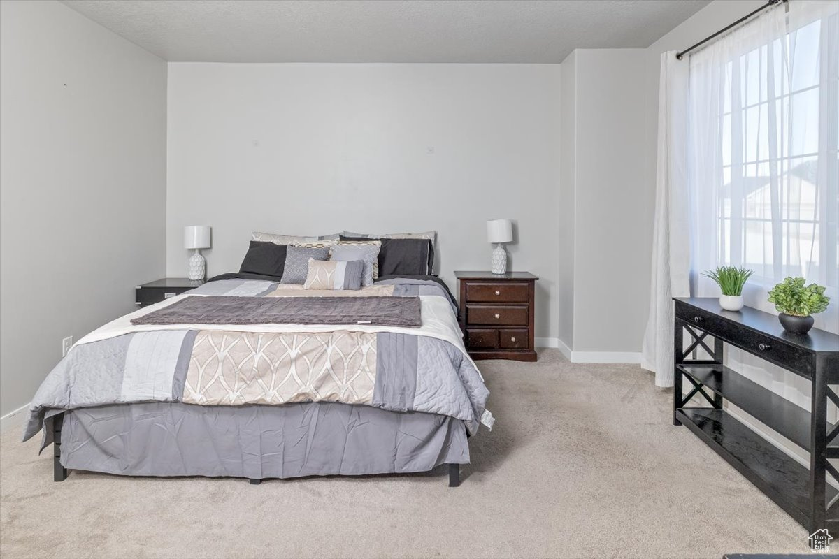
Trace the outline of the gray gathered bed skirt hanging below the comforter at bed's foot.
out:
[[[404,474],[468,463],[452,417],[370,406],[114,404],[65,413],[65,468],[137,476]]]

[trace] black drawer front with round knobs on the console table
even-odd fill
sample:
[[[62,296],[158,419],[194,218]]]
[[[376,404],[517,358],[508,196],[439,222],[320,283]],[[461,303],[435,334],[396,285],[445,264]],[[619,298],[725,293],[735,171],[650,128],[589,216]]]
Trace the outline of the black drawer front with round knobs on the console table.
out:
[[[775,365],[797,371],[798,374],[812,374],[812,355],[807,351],[784,344],[778,339],[773,339],[752,329],[744,329],[737,323],[732,323],[725,318],[699,308],[676,304],[676,317],[696,329],[745,349],[749,353],[771,361]]]

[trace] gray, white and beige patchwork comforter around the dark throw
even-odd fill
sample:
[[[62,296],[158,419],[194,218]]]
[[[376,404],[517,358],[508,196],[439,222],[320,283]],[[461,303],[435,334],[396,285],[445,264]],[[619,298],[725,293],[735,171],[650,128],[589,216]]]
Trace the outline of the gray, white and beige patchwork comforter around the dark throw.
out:
[[[80,340],[34,396],[23,437],[63,410],[139,402],[282,406],[332,401],[452,417],[477,432],[489,392],[466,355],[451,302],[434,282],[389,280],[378,296],[419,296],[420,329],[205,324],[130,325],[117,319]],[[382,291],[384,290],[384,291]],[[227,280],[204,297],[287,295],[270,282]],[[181,296],[184,297],[184,296]],[[168,306],[159,303],[154,307]],[[51,443],[44,429],[42,448]]]

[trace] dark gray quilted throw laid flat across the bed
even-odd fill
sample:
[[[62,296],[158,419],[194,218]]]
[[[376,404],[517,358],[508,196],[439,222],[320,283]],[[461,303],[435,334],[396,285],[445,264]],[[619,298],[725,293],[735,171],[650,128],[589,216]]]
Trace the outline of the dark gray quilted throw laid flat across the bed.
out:
[[[371,324],[420,328],[418,297],[187,297],[132,318],[141,324]]]

